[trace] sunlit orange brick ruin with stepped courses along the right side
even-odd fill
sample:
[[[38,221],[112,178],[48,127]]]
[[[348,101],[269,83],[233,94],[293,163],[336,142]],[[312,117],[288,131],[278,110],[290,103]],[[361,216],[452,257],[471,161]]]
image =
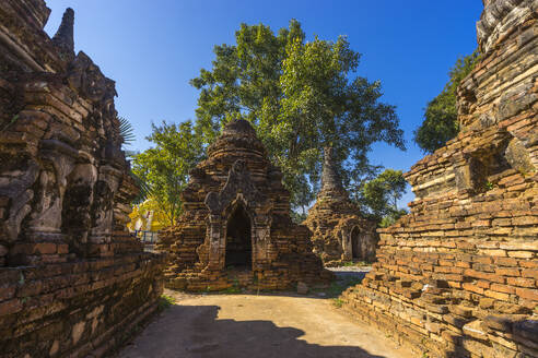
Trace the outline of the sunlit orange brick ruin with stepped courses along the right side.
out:
[[[411,213],[344,307],[430,357],[538,357],[538,1],[487,1],[461,132],[406,174]]]

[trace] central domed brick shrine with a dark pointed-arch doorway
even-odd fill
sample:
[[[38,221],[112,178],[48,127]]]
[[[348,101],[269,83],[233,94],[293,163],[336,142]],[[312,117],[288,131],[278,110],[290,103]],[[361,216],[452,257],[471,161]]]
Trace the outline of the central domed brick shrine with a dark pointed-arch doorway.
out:
[[[284,289],[330,278],[311,232],[290,218],[290,193],[250,123],[226,124],[191,172],[184,214],[160,235],[169,253],[167,286],[220,290]]]

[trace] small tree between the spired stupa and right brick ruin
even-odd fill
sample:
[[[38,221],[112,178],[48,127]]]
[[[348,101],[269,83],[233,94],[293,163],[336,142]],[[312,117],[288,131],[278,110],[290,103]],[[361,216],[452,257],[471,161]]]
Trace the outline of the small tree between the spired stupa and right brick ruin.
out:
[[[364,183],[361,203],[382,227],[389,226],[407,213],[406,210],[399,210],[397,205],[406,191],[406,186],[401,170],[386,169],[377,178]]]

